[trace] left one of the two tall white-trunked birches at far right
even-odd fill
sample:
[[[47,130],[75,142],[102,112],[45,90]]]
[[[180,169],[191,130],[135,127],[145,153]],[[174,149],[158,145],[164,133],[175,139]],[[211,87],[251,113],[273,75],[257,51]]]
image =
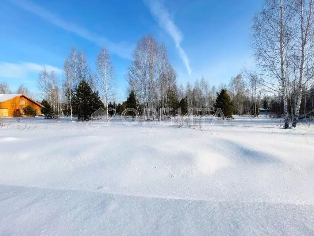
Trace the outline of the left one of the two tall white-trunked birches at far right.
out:
[[[287,61],[291,52],[293,14],[289,0],[265,0],[253,20],[252,46],[266,86],[280,92],[284,102],[284,128],[289,127],[287,101]]]

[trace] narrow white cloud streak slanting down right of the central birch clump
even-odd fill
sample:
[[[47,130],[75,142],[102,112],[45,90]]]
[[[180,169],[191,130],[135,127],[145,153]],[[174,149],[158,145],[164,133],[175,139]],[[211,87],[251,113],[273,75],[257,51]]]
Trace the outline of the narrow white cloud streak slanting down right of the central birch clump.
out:
[[[185,67],[187,68],[188,74],[191,75],[192,70],[190,67],[189,59],[187,57],[187,53],[183,50],[183,48],[181,48],[181,42],[183,39],[182,33],[174,23],[174,20],[169,14],[169,11],[165,8],[165,6],[162,3],[160,3],[159,0],[144,0],[144,1],[148,4],[150,13],[154,16],[154,19],[159,23],[159,26],[163,28],[175,42],[179,56],[183,61]]]

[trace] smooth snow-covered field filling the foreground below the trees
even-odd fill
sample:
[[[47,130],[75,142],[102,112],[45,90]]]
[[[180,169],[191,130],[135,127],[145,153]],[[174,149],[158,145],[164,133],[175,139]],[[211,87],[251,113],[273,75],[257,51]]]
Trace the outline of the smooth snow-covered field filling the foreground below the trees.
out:
[[[314,235],[313,124],[3,120],[0,235]]]

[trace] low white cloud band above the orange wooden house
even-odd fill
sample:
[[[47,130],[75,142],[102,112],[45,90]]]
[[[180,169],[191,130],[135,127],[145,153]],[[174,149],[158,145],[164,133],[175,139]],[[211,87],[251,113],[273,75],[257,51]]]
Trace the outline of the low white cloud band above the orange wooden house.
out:
[[[40,65],[32,62],[9,63],[0,62],[0,77],[25,78],[30,73],[38,73],[45,67],[48,72],[62,73],[62,69],[52,65]]]

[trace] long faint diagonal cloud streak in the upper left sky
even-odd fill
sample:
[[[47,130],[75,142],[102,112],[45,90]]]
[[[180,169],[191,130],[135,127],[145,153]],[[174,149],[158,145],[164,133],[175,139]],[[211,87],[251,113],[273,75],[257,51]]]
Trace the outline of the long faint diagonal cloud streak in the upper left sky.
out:
[[[89,30],[79,25],[63,20],[59,16],[52,14],[50,11],[42,8],[41,6],[31,1],[10,0],[10,2],[14,3],[16,6],[20,8],[23,8],[24,10],[27,10],[41,17],[42,19],[50,22],[53,25],[56,25],[66,31],[72,32],[78,35],[79,37],[82,37],[88,41],[94,42],[96,45],[100,47],[106,47],[108,51],[118,55],[121,58],[130,59],[132,55],[132,50],[134,46],[133,44],[130,44],[128,42],[119,42],[119,43],[112,42],[109,39],[99,36],[93,32],[90,32]]]

